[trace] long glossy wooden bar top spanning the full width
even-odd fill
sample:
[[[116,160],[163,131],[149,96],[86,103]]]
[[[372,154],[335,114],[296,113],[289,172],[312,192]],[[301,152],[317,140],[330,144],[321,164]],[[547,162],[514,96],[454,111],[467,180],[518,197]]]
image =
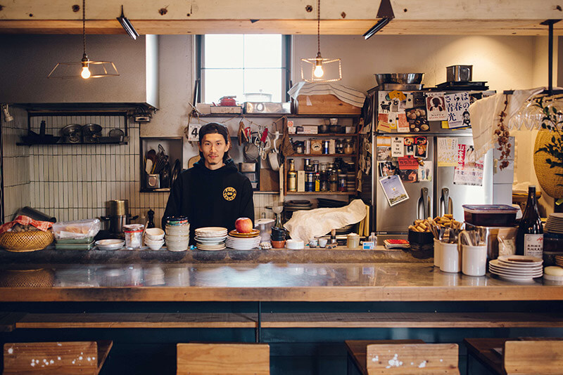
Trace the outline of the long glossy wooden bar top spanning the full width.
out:
[[[429,263],[12,264],[0,301],[563,301],[563,286]]]

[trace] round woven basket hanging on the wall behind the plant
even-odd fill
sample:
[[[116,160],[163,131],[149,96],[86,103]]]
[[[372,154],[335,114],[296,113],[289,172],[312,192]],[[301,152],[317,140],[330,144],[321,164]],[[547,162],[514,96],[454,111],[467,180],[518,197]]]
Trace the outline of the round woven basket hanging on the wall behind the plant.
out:
[[[563,198],[563,176],[555,176],[555,173],[563,173],[563,168],[550,168],[545,159],[553,158],[545,152],[536,151],[551,142],[551,137],[556,135],[552,131],[540,130],[536,137],[536,144],[533,146],[533,168],[536,169],[536,176],[541,188],[547,195],[555,199]]]

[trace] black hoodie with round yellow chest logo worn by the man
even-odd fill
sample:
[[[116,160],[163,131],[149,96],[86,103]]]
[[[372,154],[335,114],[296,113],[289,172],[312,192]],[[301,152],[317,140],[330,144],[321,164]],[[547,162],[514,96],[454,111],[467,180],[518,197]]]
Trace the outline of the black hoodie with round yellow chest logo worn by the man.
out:
[[[194,230],[201,227],[234,229],[237,218],[251,218],[254,223],[254,202],[250,180],[228,159],[220,169],[208,169],[203,159],[179,173],[166,204],[166,218],[187,216],[190,223],[190,243]]]

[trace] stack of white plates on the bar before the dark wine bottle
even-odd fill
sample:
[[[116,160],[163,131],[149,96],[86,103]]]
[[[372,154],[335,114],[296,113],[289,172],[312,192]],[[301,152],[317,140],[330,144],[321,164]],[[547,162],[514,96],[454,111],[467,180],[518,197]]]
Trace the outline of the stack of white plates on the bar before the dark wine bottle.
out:
[[[491,261],[488,270],[493,275],[514,282],[529,282],[543,275],[543,259],[535,256],[503,255]]]

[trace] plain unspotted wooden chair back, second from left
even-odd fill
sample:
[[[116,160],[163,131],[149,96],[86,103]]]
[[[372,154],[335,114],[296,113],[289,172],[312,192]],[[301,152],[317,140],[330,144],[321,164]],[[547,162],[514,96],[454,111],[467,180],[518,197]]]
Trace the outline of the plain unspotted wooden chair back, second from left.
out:
[[[270,346],[255,343],[179,343],[176,374],[270,374]]]

